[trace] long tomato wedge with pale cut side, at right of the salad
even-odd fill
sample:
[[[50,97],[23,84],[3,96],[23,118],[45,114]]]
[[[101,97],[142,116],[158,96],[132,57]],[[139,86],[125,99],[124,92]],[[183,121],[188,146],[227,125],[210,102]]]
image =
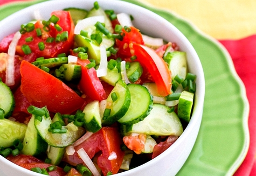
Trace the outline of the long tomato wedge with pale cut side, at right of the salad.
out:
[[[171,72],[162,58],[147,46],[133,44],[134,55],[143,68],[147,69],[154,79],[158,94],[167,96],[171,94]]]

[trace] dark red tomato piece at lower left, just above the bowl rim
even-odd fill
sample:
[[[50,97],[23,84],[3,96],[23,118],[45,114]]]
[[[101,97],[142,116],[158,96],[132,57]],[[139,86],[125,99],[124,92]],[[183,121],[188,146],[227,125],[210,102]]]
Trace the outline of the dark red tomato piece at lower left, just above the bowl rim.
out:
[[[13,157],[12,154],[10,154],[6,159],[11,161],[14,164],[22,165],[22,164],[29,164],[29,163],[43,163],[40,159],[37,159],[36,157],[25,155],[25,154],[18,154],[17,156]]]

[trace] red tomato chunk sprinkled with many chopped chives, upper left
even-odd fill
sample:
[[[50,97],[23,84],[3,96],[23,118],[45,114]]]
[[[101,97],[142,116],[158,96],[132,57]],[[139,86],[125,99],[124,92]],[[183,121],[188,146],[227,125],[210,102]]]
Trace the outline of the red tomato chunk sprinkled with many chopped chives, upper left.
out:
[[[50,31],[46,32],[43,30],[44,25],[41,21],[36,22],[34,24],[35,30],[32,32],[27,32],[22,34],[22,37],[18,41],[18,45],[16,47],[16,51],[19,55],[24,55],[22,51],[22,46],[24,44],[29,45],[31,51],[36,53],[38,57],[45,57],[45,58],[53,58],[57,57],[60,53],[68,53],[70,48],[73,46],[73,38],[74,38],[74,24],[68,11],[54,11],[51,15],[55,15],[59,18],[57,24],[62,28],[61,31],[57,31],[54,28],[54,25],[51,23]],[[40,29],[42,32],[42,36],[37,36],[36,29]],[[52,43],[46,43],[46,39],[49,37],[56,38],[57,34],[61,34],[62,32],[68,32],[68,39],[66,41],[53,41]],[[33,37],[33,40],[30,42],[26,42],[25,39],[28,37]],[[45,45],[45,49],[43,51],[39,50],[38,43],[43,42]]]

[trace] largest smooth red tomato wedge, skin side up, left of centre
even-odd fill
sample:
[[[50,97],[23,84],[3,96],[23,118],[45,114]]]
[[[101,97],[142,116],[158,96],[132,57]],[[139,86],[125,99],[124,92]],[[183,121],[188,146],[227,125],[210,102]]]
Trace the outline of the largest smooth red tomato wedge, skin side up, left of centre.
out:
[[[40,104],[40,107],[46,105],[51,112],[71,114],[85,102],[65,83],[27,61],[22,61],[20,73],[23,95],[29,102]]]

